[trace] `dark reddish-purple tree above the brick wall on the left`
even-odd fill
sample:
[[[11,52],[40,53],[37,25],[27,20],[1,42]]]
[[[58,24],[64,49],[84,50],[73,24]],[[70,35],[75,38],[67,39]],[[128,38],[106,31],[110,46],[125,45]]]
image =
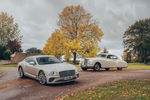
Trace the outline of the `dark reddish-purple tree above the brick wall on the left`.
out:
[[[9,40],[7,43],[7,47],[12,53],[22,52],[21,44],[17,40],[13,40],[13,41]]]

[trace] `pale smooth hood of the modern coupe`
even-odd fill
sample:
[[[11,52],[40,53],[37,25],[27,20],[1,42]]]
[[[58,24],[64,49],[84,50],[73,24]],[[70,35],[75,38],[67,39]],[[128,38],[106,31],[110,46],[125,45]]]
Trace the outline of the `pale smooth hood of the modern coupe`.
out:
[[[72,64],[68,63],[57,63],[57,64],[47,64],[47,65],[39,65],[41,70],[51,72],[51,71],[64,71],[64,70],[76,70],[76,67]]]

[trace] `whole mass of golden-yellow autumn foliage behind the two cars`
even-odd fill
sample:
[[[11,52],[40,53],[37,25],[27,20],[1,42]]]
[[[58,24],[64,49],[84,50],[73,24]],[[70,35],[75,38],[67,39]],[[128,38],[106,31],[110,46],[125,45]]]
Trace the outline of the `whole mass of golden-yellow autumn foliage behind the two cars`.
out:
[[[53,32],[48,39],[43,54],[69,59],[76,57],[93,57],[100,50],[98,43],[103,33],[96,20],[83,7],[67,6],[59,14],[60,29]]]

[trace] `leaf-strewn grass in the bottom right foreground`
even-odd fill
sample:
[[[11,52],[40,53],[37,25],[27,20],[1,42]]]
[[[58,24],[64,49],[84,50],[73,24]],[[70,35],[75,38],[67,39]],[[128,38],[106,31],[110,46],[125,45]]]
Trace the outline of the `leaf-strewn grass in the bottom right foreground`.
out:
[[[150,100],[150,80],[106,83],[95,89],[64,96],[63,100]]]

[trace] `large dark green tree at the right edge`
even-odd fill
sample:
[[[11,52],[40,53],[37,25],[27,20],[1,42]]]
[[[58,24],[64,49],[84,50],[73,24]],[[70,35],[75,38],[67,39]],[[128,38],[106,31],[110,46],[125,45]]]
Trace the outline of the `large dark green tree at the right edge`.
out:
[[[138,56],[139,62],[147,63],[150,56],[150,18],[136,21],[124,33],[125,50]]]

